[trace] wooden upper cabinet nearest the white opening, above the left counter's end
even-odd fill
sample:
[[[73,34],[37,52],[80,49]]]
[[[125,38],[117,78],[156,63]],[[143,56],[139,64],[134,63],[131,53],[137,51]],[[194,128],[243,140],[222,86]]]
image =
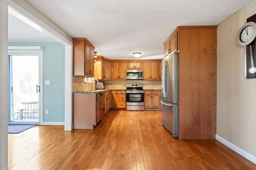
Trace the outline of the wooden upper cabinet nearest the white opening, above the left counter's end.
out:
[[[73,38],[74,76],[94,76],[94,49],[86,38]]]

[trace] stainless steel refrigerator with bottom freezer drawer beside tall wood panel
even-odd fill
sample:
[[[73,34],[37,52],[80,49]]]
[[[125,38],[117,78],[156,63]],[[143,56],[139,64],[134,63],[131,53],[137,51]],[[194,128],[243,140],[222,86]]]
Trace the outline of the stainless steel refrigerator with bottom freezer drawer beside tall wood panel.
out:
[[[178,53],[162,60],[162,125],[178,137]]]

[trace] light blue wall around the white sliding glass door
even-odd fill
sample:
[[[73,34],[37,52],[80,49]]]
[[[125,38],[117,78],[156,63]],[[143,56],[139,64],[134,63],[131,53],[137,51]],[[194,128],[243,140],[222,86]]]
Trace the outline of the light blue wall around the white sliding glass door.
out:
[[[8,43],[9,46],[42,46],[44,122],[64,122],[65,46],[60,43]],[[50,80],[50,86],[45,85]],[[45,114],[45,109],[49,114]]]

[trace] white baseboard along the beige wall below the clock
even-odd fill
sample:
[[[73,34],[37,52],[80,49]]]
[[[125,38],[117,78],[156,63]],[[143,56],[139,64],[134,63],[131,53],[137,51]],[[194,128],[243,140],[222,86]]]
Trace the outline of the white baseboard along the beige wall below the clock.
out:
[[[226,145],[230,149],[234,150],[238,154],[242,155],[244,158],[250,160],[254,164],[256,164],[256,157],[252,156],[251,154],[247,153],[246,151],[238,148],[236,145],[233,145],[232,143],[228,142],[227,140],[223,139],[222,137],[216,135],[216,140],[219,141],[220,143]]]

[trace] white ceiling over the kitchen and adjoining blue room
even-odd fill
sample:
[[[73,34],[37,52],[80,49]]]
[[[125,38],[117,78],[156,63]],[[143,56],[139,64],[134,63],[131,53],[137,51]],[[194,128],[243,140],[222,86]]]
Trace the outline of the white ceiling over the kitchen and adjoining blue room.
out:
[[[70,37],[86,37],[109,59],[164,57],[181,25],[218,25],[253,0],[26,0]],[[246,19],[245,19],[246,22]],[[9,14],[9,42],[54,42]],[[138,59],[138,58],[136,58]]]

